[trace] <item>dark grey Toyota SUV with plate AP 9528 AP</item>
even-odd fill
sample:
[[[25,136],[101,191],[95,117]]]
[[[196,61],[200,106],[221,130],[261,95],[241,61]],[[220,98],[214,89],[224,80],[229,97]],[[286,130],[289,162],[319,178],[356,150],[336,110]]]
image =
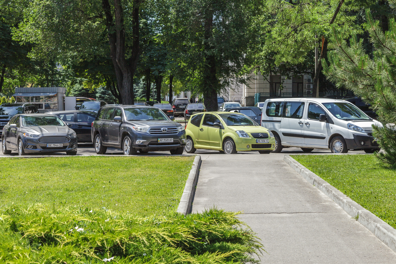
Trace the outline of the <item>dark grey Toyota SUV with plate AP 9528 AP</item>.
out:
[[[169,150],[181,155],[186,141],[184,126],[171,121],[153,106],[104,106],[92,122],[91,138],[97,154],[107,147],[121,148],[124,155]]]

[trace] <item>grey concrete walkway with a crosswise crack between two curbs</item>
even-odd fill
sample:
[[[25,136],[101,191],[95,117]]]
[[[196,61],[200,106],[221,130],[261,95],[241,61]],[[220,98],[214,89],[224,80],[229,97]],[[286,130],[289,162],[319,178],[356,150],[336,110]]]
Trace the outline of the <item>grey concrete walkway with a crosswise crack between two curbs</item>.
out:
[[[244,211],[240,218],[268,252],[262,263],[396,263],[396,253],[283,161],[301,153],[293,149],[197,151],[202,166],[192,210]]]

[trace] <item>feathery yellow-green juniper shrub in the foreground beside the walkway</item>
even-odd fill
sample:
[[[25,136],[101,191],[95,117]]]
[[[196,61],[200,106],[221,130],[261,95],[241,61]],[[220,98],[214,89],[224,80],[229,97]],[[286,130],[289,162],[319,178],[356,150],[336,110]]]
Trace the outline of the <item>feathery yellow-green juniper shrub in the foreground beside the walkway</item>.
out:
[[[136,218],[103,209],[4,209],[0,259],[23,263],[258,263],[262,245],[236,217],[210,209]]]

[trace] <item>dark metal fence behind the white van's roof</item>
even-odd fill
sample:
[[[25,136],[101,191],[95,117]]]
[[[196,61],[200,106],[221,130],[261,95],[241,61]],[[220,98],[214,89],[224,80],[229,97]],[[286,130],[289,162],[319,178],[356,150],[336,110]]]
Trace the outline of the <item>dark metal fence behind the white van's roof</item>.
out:
[[[354,96],[354,94],[351,91],[319,93],[320,98],[340,99],[348,96]],[[293,98],[293,97],[310,98],[313,97],[313,95],[312,93],[255,93],[254,103],[264,102],[265,100],[272,98]]]

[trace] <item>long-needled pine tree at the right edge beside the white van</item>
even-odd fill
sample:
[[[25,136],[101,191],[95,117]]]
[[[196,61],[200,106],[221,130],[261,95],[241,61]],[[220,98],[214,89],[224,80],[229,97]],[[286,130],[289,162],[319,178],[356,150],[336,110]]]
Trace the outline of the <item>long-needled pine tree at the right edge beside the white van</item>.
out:
[[[386,163],[396,164],[396,23],[390,19],[389,31],[383,32],[379,21],[374,21],[366,10],[365,27],[375,51],[372,58],[366,53],[363,40],[352,36],[348,43],[345,34],[332,28],[331,44],[335,50],[329,52],[328,60],[322,62],[324,73],[337,87],[346,87],[376,111],[383,127],[374,127],[374,136],[385,150],[377,156]],[[381,23],[382,24],[382,23]]]

